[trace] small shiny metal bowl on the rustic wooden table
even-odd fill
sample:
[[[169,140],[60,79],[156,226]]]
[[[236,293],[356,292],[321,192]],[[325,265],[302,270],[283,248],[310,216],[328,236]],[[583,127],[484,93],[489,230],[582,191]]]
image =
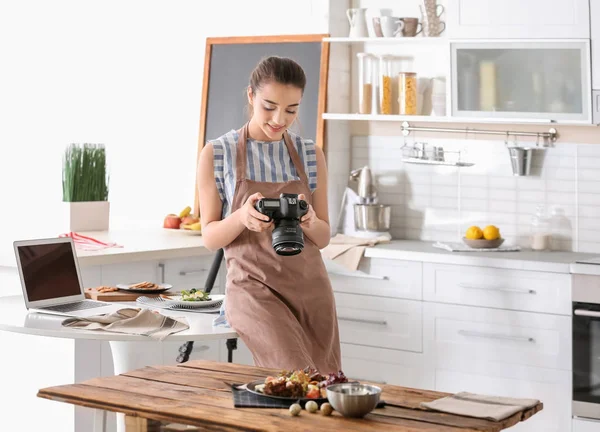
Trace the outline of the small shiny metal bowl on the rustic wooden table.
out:
[[[364,417],[375,409],[381,389],[368,384],[342,383],[327,386],[327,399],[344,417]]]

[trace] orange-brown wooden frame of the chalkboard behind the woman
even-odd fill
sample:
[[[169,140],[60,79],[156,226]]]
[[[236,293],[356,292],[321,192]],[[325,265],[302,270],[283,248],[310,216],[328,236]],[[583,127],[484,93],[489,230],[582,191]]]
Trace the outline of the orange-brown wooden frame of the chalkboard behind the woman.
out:
[[[303,34],[303,35],[273,35],[273,36],[232,36],[206,38],[206,49],[204,52],[204,77],[202,81],[202,100],[200,106],[200,130],[198,134],[198,155],[196,160],[196,169],[200,152],[206,141],[206,116],[208,106],[208,93],[210,82],[210,62],[213,45],[222,44],[258,44],[258,43],[306,43],[315,42],[321,44],[321,61],[319,70],[319,94],[317,107],[317,131],[315,143],[324,148],[325,123],[323,113],[327,102],[327,77],[329,73],[329,42],[323,41],[328,34]],[[241,126],[241,125],[240,125]],[[200,204],[198,202],[198,178],[196,176],[196,186],[194,188],[194,213],[200,214]]]

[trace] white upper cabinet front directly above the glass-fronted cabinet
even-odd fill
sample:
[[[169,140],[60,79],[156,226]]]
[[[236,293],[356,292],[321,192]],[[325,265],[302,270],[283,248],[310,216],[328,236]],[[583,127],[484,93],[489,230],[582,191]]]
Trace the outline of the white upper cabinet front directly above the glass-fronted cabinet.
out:
[[[587,39],[590,0],[453,0],[452,39]],[[592,3],[597,0],[591,0]]]

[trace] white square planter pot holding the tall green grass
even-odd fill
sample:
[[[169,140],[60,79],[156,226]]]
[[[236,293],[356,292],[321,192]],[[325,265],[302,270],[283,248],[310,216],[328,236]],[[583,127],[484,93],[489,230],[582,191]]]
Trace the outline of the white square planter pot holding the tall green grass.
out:
[[[108,231],[110,202],[63,202],[69,231]]]

